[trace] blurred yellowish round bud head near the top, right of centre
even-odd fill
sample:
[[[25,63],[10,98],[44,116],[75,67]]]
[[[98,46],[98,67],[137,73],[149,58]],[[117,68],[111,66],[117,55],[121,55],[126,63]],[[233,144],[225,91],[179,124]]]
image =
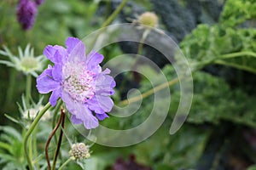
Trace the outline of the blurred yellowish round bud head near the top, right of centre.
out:
[[[139,15],[137,21],[145,26],[156,27],[158,25],[158,17],[152,12],[145,12]]]

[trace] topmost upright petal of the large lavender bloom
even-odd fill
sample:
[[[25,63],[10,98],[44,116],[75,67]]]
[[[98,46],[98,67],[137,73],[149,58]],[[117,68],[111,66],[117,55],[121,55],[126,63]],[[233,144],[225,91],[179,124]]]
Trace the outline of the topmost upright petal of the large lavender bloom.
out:
[[[73,61],[78,58],[81,61],[85,61],[85,46],[79,38],[68,37],[66,41],[68,61]]]

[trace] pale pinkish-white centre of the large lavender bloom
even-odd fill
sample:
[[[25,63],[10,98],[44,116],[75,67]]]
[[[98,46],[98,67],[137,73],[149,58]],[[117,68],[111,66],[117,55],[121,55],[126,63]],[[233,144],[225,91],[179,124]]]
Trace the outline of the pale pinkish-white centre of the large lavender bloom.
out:
[[[94,74],[87,71],[81,62],[67,62],[64,67],[65,80],[62,87],[72,99],[85,103],[95,95]]]

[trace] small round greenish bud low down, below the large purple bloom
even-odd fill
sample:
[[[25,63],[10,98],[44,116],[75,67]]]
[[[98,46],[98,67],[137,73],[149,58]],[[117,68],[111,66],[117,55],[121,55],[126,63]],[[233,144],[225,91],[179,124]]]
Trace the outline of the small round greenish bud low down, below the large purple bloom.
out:
[[[82,160],[90,157],[89,148],[84,143],[73,144],[69,155],[73,160]]]

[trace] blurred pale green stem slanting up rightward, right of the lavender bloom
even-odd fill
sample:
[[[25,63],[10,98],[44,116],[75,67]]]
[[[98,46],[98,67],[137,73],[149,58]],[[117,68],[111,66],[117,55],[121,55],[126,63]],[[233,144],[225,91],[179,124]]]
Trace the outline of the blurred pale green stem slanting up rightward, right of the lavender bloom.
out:
[[[151,88],[150,90],[148,90],[147,92],[143,93],[142,95],[135,96],[135,97],[133,97],[131,99],[125,99],[125,100],[121,101],[119,103],[119,105],[128,105],[128,104],[131,104],[131,103],[134,103],[134,102],[140,100],[141,98],[145,99],[148,96],[150,96],[151,94],[154,94],[155,92],[158,92],[158,91],[160,91],[160,90],[162,90],[164,88],[167,88],[169,86],[172,86],[173,84],[176,84],[178,81],[179,81],[179,79],[175,78],[172,81],[160,84],[159,86],[157,86],[155,88]]]

